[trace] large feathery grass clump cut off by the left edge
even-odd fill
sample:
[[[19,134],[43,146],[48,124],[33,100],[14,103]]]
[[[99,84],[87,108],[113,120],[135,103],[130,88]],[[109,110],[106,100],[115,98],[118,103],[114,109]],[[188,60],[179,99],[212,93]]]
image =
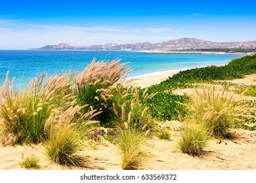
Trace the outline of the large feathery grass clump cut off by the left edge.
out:
[[[28,84],[24,92],[18,93],[13,92],[13,84],[10,86],[7,73],[5,84],[0,90],[3,144],[41,142],[46,138],[47,134],[43,130],[45,122],[54,107],[68,101],[70,95],[60,92],[68,90],[70,82],[67,76],[51,76],[46,84],[44,80],[45,75],[41,74]],[[12,141],[5,141],[5,137],[9,136]]]

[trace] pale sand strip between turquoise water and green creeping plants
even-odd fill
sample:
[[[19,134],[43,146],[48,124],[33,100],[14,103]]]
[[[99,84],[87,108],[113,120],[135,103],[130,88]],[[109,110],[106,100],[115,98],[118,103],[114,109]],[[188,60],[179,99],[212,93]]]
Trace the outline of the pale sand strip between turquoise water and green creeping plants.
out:
[[[224,66],[227,64],[228,63],[221,64],[221,65],[215,65],[215,66],[220,67],[220,66]],[[207,65],[202,66],[202,67],[207,67]],[[200,68],[200,67],[191,67],[191,68],[186,68],[186,69],[175,69],[175,70],[169,70],[169,71],[160,71],[160,72],[149,73],[146,75],[131,76],[131,77],[128,77],[127,80],[135,79],[133,82],[131,82],[131,84],[133,86],[146,88],[146,87],[152,86],[154,84],[160,84],[160,82],[167,80],[167,78],[179,73],[180,71],[186,71],[186,70],[195,69],[195,68]]]

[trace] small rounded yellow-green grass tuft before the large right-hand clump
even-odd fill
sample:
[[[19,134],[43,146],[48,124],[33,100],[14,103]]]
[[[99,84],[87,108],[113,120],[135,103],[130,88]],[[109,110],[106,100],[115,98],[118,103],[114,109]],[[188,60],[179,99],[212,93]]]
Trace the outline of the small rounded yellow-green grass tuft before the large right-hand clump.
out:
[[[202,156],[205,154],[204,148],[208,141],[209,136],[203,125],[192,122],[183,127],[178,139],[178,148],[191,156]]]

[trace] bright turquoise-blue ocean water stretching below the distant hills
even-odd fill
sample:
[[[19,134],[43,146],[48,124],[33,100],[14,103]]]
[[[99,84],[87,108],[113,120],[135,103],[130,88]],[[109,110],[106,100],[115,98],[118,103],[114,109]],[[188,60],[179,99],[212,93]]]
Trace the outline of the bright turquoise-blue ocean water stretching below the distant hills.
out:
[[[15,77],[15,86],[25,86],[41,73],[48,76],[64,74],[69,71],[81,72],[96,58],[112,60],[119,58],[121,63],[133,69],[129,77],[148,75],[177,69],[190,69],[208,65],[221,65],[242,54],[145,54],[123,51],[37,51],[37,50],[0,50],[0,84]]]

